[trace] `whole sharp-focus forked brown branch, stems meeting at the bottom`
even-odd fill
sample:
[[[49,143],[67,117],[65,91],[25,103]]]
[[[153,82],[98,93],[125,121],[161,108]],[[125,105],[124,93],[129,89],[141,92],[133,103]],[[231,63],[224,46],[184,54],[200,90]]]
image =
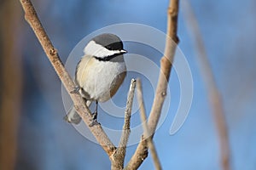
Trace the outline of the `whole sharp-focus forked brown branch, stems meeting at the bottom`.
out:
[[[32,30],[38,37],[39,42],[44,48],[44,52],[47,55],[50,63],[55,68],[57,75],[60,77],[61,82],[64,87],[67,89],[68,94],[73,99],[73,104],[79,113],[79,116],[82,117],[83,121],[89,127],[90,132],[94,135],[97,142],[101,144],[102,149],[108,154],[108,157],[111,161],[111,169],[137,169],[148,156],[148,147],[150,151],[154,154],[154,144],[153,136],[156,129],[157,123],[160,118],[161,108],[166,97],[166,88],[167,83],[170,77],[170,72],[172,69],[172,61],[174,58],[178,38],[177,38],[177,13],[178,13],[178,0],[170,1],[169,8],[167,10],[168,20],[167,20],[167,36],[166,36],[166,50],[165,54],[160,60],[160,78],[156,89],[154,104],[150,111],[148,117],[148,122],[146,122],[145,111],[143,111],[143,106],[141,106],[141,114],[143,117],[144,124],[144,134],[140,143],[137,146],[137,150],[134,155],[131,157],[131,160],[124,168],[125,160],[125,149],[128,142],[129,135],[131,133],[130,121],[131,121],[131,106],[134,96],[135,84],[134,79],[131,80],[131,88],[127,97],[126,110],[125,110],[125,122],[123,127],[123,133],[121,135],[119,146],[116,148],[111,140],[108,138],[108,135],[103,131],[100,124],[90,127],[90,110],[86,105],[84,105],[84,99],[79,94],[72,94],[70,92],[75,88],[75,84],[72,81],[71,77],[67,73],[64,65],[61,62],[57,49],[55,49],[52,43],[49,40],[44,28],[38,19],[38,15],[35,9],[32,6],[30,0],[20,0],[22,8],[25,11],[25,19],[32,27]],[[173,41],[176,42],[173,44]],[[140,82],[139,82],[140,84]],[[140,85],[139,85],[140,86]],[[141,87],[139,90],[142,92]],[[141,96],[142,99],[142,96]],[[143,100],[143,99],[142,99]],[[156,155],[156,152],[155,152]],[[156,156],[157,157],[157,156]],[[154,162],[157,162],[158,158],[154,158]],[[161,169],[160,162],[155,163],[156,169]]]

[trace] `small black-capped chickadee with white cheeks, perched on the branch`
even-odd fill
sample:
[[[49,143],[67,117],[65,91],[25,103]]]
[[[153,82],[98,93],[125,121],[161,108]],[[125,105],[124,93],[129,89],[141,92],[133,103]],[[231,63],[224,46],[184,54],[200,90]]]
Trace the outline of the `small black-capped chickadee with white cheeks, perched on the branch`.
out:
[[[111,99],[126,76],[123,42],[113,34],[101,34],[88,42],[84,56],[76,67],[75,82],[86,105],[96,101],[93,121],[96,122],[97,103]],[[64,117],[67,122],[79,124],[81,117],[72,107]],[[93,125],[93,124],[92,124]]]

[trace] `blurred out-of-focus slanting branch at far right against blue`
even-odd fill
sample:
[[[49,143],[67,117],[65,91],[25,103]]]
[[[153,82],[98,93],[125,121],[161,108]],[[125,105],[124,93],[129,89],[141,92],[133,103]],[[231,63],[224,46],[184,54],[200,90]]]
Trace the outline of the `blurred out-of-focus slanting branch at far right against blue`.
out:
[[[183,8],[184,20],[187,22],[189,31],[191,31],[190,35],[193,38],[201,74],[204,82],[206,83],[208,99],[212,105],[212,113],[218,130],[221,165],[224,170],[230,170],[230,144],[222,99],[218,92],[217,84],[214,80],[212,69],[207,59],[207,52],[204,47],[198,22],[189,1],[183,3]]]

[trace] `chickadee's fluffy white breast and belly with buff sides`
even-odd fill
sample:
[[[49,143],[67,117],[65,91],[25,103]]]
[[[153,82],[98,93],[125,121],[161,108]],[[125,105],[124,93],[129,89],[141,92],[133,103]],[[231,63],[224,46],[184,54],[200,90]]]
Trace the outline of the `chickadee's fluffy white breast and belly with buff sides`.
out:
[[[85,98],[104,102],[110,99],[125,79],[125,62],[83,59],[77,68],[76,80]]]

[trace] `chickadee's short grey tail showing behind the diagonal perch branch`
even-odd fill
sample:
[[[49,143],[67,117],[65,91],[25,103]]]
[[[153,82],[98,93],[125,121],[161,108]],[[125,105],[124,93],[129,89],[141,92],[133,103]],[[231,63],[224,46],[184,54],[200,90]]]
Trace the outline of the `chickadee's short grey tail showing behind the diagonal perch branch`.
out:
[[[87,100],[86,105],[87,107],[90,107],[91,101]],[[82,118],[79,116],[77,113],[76,109],[74,106],[70,108],[70,110],[67,112],[67,115],[63,117],[65,121],[74,123],[74,124],[79,124],[81,122]]]

